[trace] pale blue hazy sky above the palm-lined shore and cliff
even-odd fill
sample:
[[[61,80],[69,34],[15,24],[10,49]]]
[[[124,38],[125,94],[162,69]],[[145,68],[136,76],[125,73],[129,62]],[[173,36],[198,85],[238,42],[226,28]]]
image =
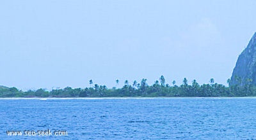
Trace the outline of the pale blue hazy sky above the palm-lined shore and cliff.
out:
[[[3,0],[0,85],[227,85],[256,31],[256,1]],[[120,80],[116,85],[115,80]]]

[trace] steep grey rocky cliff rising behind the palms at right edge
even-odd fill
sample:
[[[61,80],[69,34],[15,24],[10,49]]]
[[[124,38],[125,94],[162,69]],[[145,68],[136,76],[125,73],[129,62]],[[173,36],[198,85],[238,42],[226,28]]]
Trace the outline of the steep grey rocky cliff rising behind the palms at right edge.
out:
[[[256,32],[239,55],[229,85],[256,85]]]

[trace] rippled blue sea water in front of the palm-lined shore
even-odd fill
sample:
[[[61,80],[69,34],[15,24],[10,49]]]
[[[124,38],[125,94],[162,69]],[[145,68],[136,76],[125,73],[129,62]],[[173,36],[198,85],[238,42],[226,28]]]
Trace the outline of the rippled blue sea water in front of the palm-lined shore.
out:
[[[0,99],[0,139],[256,139],[256,99]],[[6,130],[67,130],[8,136]]]

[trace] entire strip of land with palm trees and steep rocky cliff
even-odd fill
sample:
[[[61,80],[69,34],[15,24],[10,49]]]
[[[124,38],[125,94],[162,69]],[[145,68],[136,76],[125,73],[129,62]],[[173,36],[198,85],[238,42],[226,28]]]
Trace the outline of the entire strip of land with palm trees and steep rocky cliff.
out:
[[[239,55],[232,77],[227,80],[228,87],[215,83],[213,78],[203,85],[196,80],[189,85],[187,78],[182,85],[176,85],[176,81],[169,85],[163,75],[153,85],[148,85],[144,78],[131,83],[125,80],[122,88],[107,88],[93,80],[88,82],[90,87],[51,91],[40,88],[24,92],[15,87],[0,86],[0,97],[252,97],[256,96],[256,33]],[[115,82],[119,84],[119,80]]]

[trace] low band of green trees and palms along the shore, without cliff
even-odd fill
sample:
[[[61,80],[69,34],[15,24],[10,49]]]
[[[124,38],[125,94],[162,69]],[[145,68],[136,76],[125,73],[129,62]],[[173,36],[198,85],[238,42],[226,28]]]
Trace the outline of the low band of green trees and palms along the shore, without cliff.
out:
[[[239,81],[239,78],[237,78]],[[116,80],[116,85],[119,80]],[[227,80],[229,83],[230,80]],[[182,85],[177,86],[176,81],[172,81],[172,86],[166,83],[164,76],[156,80],[153,85],[147,84],[147,79],[131,82],[125,80],[122,88],[107,88],[106,85],[93,85],[90,80],[90,88],[70,88],[53,89],[47,91],[45,89],[28,90],[23,92],[15,87],[8,88],[0,86],[0,97],[246,97],[256,96],[256,86],[252,85],[252,80],[248,80],[247,84],[232,85],[225,87],[224,85],[214,83],[211,78],[209,84],[199,85],[193,80],[189,85],[187,78],[184,78]]]

